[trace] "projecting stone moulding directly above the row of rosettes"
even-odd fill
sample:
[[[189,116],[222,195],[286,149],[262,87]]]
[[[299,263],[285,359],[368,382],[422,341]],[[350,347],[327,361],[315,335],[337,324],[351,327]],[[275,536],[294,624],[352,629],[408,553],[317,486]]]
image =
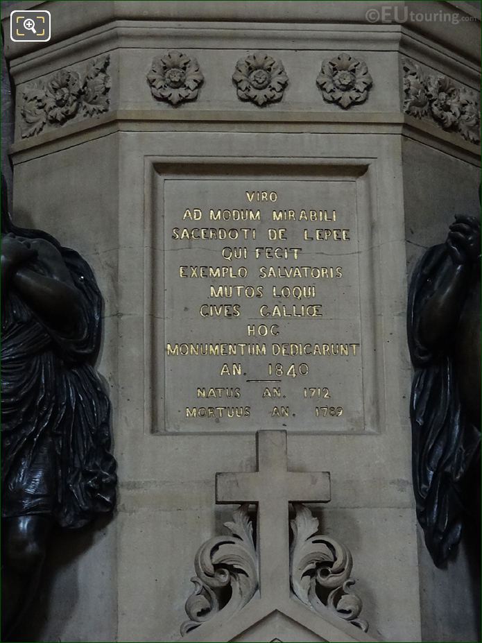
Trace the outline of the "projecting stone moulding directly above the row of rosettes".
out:
[[[248,33],[247,31],[248,30]],[[434,43],[406,26],[356,24],[286,24],[185,22],[172,24],[148,21],[117,21],[103,24],[66,41],[51,44],[44,51],[22,55],[10,62],[16,85],[100,55],[114,49],[178,48],[183,39],[191,49],[257,49],[263,42],[272,50],[298,51],[402,51],[426,62],[442,74],[456,78],[473,89],[479,86],[480,67],[440,43]],[[289,45],[287,44],[289,43]]]

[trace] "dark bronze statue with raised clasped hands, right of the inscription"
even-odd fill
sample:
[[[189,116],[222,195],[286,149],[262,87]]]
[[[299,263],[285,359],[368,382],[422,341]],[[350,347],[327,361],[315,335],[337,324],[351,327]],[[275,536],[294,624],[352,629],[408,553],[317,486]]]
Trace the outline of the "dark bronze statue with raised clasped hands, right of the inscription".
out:
[[[415,268],[408,295],[413,486],[438,567],[463,529],[480,529],[480,244],[480,222],[456,216],[447,241]]]

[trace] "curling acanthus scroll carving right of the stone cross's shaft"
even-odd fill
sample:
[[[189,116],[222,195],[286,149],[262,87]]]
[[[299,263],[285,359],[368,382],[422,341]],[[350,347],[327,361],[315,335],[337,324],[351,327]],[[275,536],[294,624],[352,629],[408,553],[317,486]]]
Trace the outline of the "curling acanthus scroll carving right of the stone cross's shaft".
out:
[[[350,590],[355,583],[350,578],[352,554],[336,540],[317,535],[318,518],[309,508],[298,503],[293,506],[290,580],[295,596],[318,614],[323,615],[328,608],[337,617],[366,632],[367,621],[358,618],[361,599]]]

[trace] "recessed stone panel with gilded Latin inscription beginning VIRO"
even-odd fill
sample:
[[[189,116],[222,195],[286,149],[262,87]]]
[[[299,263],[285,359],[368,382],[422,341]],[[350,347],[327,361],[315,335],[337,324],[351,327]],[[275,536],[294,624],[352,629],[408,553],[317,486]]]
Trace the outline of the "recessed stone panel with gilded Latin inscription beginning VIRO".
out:
[[[158,428],[363,430],[355,182],[166,178],[163,227]]]

